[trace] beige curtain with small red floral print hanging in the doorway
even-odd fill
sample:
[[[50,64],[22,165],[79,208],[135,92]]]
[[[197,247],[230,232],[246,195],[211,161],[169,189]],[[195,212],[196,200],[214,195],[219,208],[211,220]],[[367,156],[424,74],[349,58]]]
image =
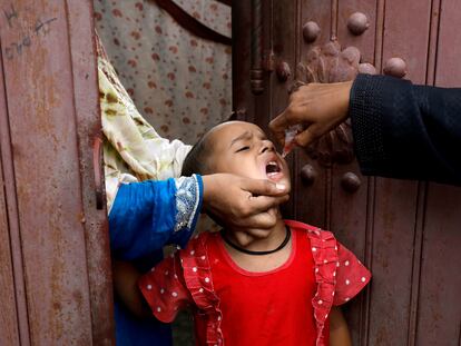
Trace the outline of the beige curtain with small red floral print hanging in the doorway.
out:
[[[175,0],[230,34],[230,8]],[[232,111],[232,50],[189,33],[155,1],[94,1],[96,28],[128,96],[161,137],[194,144]],[[134,105],[133,105],[134,106]]]

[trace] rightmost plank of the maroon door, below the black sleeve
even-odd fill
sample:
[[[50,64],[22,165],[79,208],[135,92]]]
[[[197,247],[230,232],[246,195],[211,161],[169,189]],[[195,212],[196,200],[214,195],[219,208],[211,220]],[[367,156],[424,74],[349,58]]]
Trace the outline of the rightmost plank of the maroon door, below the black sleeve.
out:
[[[415,345],[459,345],[461,188],[428,189]]]

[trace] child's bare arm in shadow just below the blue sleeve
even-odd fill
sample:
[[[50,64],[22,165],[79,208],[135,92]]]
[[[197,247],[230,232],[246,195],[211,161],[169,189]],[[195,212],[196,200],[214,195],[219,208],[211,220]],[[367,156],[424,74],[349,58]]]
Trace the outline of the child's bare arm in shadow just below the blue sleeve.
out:
[[[138,317],[147,317],[153,314],[137,285],[140,275],[127,261],[115,260],[112,263],[115,294],[133,314]]]

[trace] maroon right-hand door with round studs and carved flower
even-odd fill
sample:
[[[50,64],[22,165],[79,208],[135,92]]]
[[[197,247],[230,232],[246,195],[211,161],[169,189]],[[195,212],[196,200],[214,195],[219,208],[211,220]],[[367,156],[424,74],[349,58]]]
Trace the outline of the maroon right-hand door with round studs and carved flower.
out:
[[[461,86],[455,0],[238,1],[234,108],[267,128],[297,80],[357,71]],[[322,226],[372,270],[346,307],[354,345],[459,345],[461,189],[364,177],[347,123],[288,157],[290,217]]]

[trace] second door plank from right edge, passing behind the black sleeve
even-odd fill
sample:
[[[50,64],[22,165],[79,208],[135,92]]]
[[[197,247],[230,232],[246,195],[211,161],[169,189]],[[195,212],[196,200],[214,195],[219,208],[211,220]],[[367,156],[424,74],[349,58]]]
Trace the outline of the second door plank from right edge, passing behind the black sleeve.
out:
[[[408,78],[425,81],[430,13],[429,0],[385,2],[383,66],[400,57]],[[408,338],[418,196],[415,181],[376,179],[370,345],[398,345]]]

